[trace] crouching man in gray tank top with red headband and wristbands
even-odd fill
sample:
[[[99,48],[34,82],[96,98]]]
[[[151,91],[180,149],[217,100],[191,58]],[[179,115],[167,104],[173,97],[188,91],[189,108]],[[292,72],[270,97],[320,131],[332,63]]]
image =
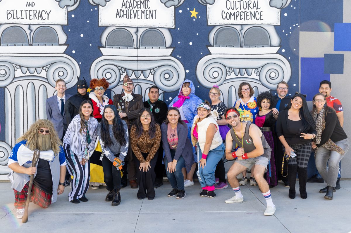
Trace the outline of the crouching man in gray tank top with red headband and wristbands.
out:
[[[232,128],[225,139],[225,157],[228,160],[236,158],[236,161],[227,173],[229,184],[235,192],[235,196],[226,200],[225,203],[244,201],[236,176],[255,165],[254,177],[267,203],[264,215],[273,215],[276,206],[273,204],[269,185],[263,177],[272,149],[266,142],[261,130],[251,122],[241,122],[239,116],[239,111],[236,108],[226,110],[225,118]],[[238,144],[239,149],[233,151],[232,148],[235,148],[236,144]]]

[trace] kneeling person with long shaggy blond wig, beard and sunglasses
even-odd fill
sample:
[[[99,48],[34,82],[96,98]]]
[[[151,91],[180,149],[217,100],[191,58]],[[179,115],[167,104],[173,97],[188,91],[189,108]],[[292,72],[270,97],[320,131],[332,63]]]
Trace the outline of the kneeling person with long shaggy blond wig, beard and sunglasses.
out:
[[[17,209],[17,218],[22,218],[30,175],[34,174],[32,202],[47,208],[57,200],[57,195],[65,190],[66,158],[54,125],[48,120],[33,123],[17,142],[8,159],[8,167],[12,170],[8,178],[15,193],[14,206]],[[26,157],[24,154],[30,152],[33,155],[35,149],[53,153],[53,160],[39,158],[37,166],[32,167],[32,157]]]

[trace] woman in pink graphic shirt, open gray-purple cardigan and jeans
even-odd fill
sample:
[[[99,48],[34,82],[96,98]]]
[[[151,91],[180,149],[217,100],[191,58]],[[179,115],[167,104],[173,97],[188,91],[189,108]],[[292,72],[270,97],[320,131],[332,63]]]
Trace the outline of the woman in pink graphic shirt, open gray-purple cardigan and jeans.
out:
[[[177,107],[170,107],[167,119],[161,125],[162,143],[165,151],[165,166],[167,178],[172,185],[168,197],[185,197],[184,176],[181,169],[184,167],[189,172],[193,162],[193,147],[188,135],[187,125],[180,119]]]

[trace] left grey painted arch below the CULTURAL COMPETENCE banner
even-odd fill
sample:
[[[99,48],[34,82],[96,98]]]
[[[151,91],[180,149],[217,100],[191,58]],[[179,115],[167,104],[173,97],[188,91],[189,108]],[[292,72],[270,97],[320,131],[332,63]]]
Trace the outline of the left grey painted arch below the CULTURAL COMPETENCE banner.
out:
[[[240,47],[240,34],[237,29],[232,27],[219,28],[214,33],[214,47]]]

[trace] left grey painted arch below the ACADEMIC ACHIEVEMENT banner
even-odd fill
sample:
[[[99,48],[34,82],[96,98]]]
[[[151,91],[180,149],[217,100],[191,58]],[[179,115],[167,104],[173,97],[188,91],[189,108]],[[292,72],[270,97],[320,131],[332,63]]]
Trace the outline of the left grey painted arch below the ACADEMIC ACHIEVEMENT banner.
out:
[[[106,48],[134,48],[133,36],[124,28],[113,29],[106,38]]]

